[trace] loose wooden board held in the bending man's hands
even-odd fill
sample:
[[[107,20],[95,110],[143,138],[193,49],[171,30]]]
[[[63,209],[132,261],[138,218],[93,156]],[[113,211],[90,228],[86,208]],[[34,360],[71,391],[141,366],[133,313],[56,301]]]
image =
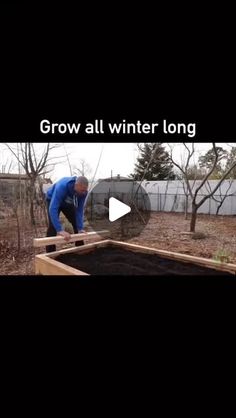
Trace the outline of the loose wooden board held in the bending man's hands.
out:
[[[69,244],[70,242],[75,241],[82,241],[82,240],[90,240],[91,238],[100,238],[100,236],[109,236],[109,231],[103,230],[98,232],[86,232],[81,234],[71,234],[71,238],[69,241],[65,241],[65,239],[59,235],[55,237],[44,237],[44,238],[34,238],[34,247],[45,247],[46,245],[53,245],[53,244]]]

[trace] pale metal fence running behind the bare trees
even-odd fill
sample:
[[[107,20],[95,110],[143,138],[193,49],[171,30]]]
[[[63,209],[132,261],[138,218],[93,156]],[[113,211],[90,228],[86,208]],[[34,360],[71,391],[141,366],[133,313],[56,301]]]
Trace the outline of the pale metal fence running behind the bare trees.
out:
[[[209,180],[206,184],[201,186],[201,180],[190,180],[189,184],[192,192],[194,193],[196,188],[201,186],[201,190],[197,195],[197,202],[199,202],[203,197],[209,195],[209,193],[214,190],[219,183],[219,180]],[[136,186],[139,182],[136,182]],[[132,195],[133,190],[135,190],[133,182],[130,181],[113,181],[107,182],[103,181],[96,186],[93,199],[96,202],[100,202],[101,205],[104,205],[108,208],[109,194],[107,189],[111,190],[111,195],[113,196],[118,190],[122,190],[124,193],[114,196],[121,201],[124,201],[127,198],[127,195]],[[146,204],[146,209],[151,211],[158,212],[185,212],[186,206],[188,206],[188,212],[191,212],[191,198],[190,196],[186,199],[186,186],[180,180],[160,180],[160,181],[143,181],[142,182],[142,193],[138,199],[143,200],[143,195],[147,195],[149,198],[149,204]],[[95,197],[96,195],[96,197]],[[98,198],[98,195],[100,197]],[[226,198],[224,199],[224,197]],[[99,200],[100,199],[100,200]],[[221,205],[219,211],[219,205],[224,199],[223,204]],[[124,201],[124,203],[129,204],[129,202]],[[142,208],[145,210],[145,207]],[[217,189],[214,194],[214,198],[208,198],[203,205],[199,208],[198,213],[205,213],[209,215],[216,215],[218,211],[219,215],[236,215],[236,180],[225,180],[221,186]]]

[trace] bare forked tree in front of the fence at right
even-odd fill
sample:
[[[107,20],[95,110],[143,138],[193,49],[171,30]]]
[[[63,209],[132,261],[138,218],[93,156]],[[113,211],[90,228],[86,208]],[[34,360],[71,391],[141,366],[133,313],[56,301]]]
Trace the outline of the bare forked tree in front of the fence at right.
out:
[[[189,177],[188,177],[188,167],[191,161],[191,158],[194,155],[195,148],[194,143],[192,146],[187,146],[186,143],[183,143],[185,149],[187,150],[187,159],[184,167],[182,167],[179,163],[177,163],[173,158],[173,149],[170,147],[170,159],[172,163],[180,170],[182,173],[183,179],[186,184],[187,191],[191,197],[192,202],[192,213],[191,213],[191,221],[190,221],[190,232],[195,232],[196,227],[196,220],[197,220],[197,212],[198,209],[203,205],[203,203],[206,202],[207,199],[214,196],[215,192],[219,189],[223,181],[227,178],[227,176],[230,174],[230,172],[236,167],[236,161],[233,161],[231,166],[222,174],[222,177],[219,179],[216,186],[213,188],[213,190],[209,191],[208,194],[203,196],[200,200],[198,200],[199,197],[199,191],[202,189],[202,187],[207,183],[208,179],[214,172],[215,168],[217,167],[217,164],[219,162],[219,149],[216,147],[216,143],[212,143],[213,147],[213,153],[214,158],[212,159],[212,164],[208,167],[205,176],[202,180],[199,181],[200,184],[197,185],[197,187],[193,188],[193,186],[190,183]]]

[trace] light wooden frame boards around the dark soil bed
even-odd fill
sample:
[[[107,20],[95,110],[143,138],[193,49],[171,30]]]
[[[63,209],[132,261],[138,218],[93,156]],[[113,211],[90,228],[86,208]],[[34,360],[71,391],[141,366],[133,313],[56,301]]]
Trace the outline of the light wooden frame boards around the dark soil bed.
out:
[[[159,250],[156,248],[144,247],[141,245],[129,244],[126,242],[121,241],[113,241],[110,239],[85,244],[80,247],[73,247],[67,248],[59,251],[54,251],[52,253],[43,254],[43,255],[36,255],[35,257],[35,272],[36,274],[60,274],[60,275],[86,275],[89,276],[88,273],[83,271],[77,270],[70,266],[67,266],[63,263],[60,263],[57,260],[54,260],[55,257],[61,254],[68,254],[68,253],[79,253],[79,254],[86,254],[89,251],[93,251],[99,247],[106,247],[106,246],[116,246],[121,248],[126,248],[129,251],[133,252],[141,252],[146,254],[157,254],[163,258],[168,258],[175,261],[181,261],[185,263],[192,263],[195,265],[200,265],[202,267],[208,267],[219,271],[225,271],[236,275],[236,265],[229,264],[229,263],[221,263],[215,260],[201,258],[201,257],[194,257],[186,254],[170,252],[166,250]],[[49,263],[48,263],[49,262]],[[47,264],[48,263],[48,264]]]

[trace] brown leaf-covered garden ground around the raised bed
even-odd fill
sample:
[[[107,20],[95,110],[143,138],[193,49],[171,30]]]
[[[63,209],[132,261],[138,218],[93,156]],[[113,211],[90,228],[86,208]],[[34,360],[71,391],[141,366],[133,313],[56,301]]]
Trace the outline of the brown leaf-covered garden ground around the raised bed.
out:
[[[189,224],[190,219],[185,220],[183,214],[153,212],[141,234],[126,242],[210,259],[224,254],[228,262],[236,264],[236,216],[198,215],[196,231],[204,237],[186,234]],[[37,237],[45,236],[45,232],[45,227],[38,227]],[[29,226],[25,228],[18,252],[16,225],[11,224],[9,229],[9,225],[1,221],[1,275],[34,274],[34,256],[45,252],[44,248],[33,248],[34,237],[34,230]]]

